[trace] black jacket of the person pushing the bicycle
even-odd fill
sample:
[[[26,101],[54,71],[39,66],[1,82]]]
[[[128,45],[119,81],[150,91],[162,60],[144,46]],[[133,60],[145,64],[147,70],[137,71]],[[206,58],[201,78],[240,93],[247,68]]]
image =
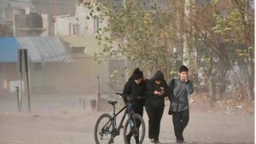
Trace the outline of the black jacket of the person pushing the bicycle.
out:
[[[143,97],[143,99],[134,101],[134,107],[143,107],[145,103],[146,82],[143,80],[141,84],[136,84],[134,80],[132,77],[129,78],[123,89],[123,94]],[[124,98],[124,101],[126,103],[127,99]]]

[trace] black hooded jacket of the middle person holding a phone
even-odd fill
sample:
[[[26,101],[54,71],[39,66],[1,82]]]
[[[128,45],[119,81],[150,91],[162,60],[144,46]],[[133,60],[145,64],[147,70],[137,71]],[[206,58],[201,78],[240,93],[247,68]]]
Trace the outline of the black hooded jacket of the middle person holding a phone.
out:
[[[155,80],[162,80],[162,83],[155,84]],[[146,103],[145,107],[165,107],[165,97],[169,94],[169,88],[164,78],[164,74],[157,71],[154,77],[147,81],[147,91],[146,91]],[[164,95],[154,95],[154,91],[164,91]]]

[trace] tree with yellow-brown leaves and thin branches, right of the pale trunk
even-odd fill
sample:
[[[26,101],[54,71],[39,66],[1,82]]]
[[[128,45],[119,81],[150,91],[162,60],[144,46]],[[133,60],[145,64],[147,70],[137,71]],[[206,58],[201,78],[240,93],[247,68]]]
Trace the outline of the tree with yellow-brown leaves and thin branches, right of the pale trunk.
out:
[[[248,7],[248,0],[212,1],[211,3],[197,3],[195,13],[185,15],[195,28],[195,43],[203,43],[204,54],[198,58],[206,58],[208,78],[212,77],[212,58],[217,57],[218,75],[221,88],[225,85],[225,76],[231,70],[236,81],[241,85],[241,79],[234,69],[233,60],[240,62],[247,70],[250,97],[253,97],[254,63],[253,63],[253,9]],[[194,5],[189,6],[193,9]],[[198,41],[199,40],[199,41]],[[193,45],[193,43],[189,43]],[[197,47],[200,48],[200,45]],[[203,56],[205,55],[205,56]],[[211,81],[210,81],[211,83]],[[212,84],[210,84],[212,85]]]

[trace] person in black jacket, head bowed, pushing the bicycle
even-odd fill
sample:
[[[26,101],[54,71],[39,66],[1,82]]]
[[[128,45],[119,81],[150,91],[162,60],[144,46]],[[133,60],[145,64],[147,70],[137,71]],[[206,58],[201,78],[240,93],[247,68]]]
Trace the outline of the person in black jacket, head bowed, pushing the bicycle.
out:
[[[145,103],[146,83],[143,78],[143,72],[139,68],[135,69],[131,78],[126,82],[123,94],[132,95],[135,97],[140,96],[141,99],[135,99],[133,104],[134,112],[143,117],[143,106]],[[128,102],[127,97],[123,97],[125,104]],[[140,122],[137,123],[137,128],[140,127]],[[131,141],[132,133],[126,135],[127,141]],[[136,143],[139,142],[139,137],[135,136]]]

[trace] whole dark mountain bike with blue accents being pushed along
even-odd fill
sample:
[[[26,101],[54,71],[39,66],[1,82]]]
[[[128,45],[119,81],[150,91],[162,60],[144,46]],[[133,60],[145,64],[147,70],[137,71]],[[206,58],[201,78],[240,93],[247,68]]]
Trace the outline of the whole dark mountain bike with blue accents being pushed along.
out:
[[[119,93],[116,93],[116,94],[121,95],[121,96],[126,96],[126,95],[119,94]],[[142,137],[141,137],[142,141],[143,141],[144,135],[145,135],[145,124],[144,124],[143,118],[139,114],[134,112],[134,107],[133,107],[134,101],[136,101],[138,99],[141,99],[141,97],[139,97],[139,96],[134,97],[132,95],[127,95],[128,102],[125,104],[125,107],[122,107],[119,110],[119,112],[117,112],[117,113],[115,110],[115,108],[116,108],[115,104],[117,103],[117,101],[108,101],[108,103],[111,104],[113,107],[113,114],[111,115],[108,113],[103,113],[100,116],[100,118],[98,118],[98,120],[96,122],[96,127],[95,127],[95,141],[97,144],[100,144],[99,141],[102,141],[102,140],[103,141],[109,140],[108,144],[113,143],[115,136],[120,134],[121,129],[124,129],[125,143],[129,143],[129,140],[127,141],[127,138],[126,138],[127,134],[128,134],[127,132],[129,132],[129,134],[132,133],[132,135],[134,135],[134,136],[139,135],[138,128],[140,126],[138,125],[138,127],[137,127],[137,124],[141,124],[141,123],[143,125]],[[119,114],[123,111],[125,111],[125,112],[124,112],[122,118],[120,119],[119,124],[117,124],[117,117],[119,117]],[[128,119],[126,119],[127,121],[125,122],[126,115],[128,116]],[[99,127],[99,124],[101,123],[102,118],[108,118],[108,120],[103,122],[105,124],[103,124],[102,126]],[[139,120],[141,123],[137,123],[137,120]],[[106,122],[107,122],[107,124],[106,124]],[[110,135],[110,137],[109,137],[109,135]],[[138,141],[138,139],[136,139],[136,141]]]

